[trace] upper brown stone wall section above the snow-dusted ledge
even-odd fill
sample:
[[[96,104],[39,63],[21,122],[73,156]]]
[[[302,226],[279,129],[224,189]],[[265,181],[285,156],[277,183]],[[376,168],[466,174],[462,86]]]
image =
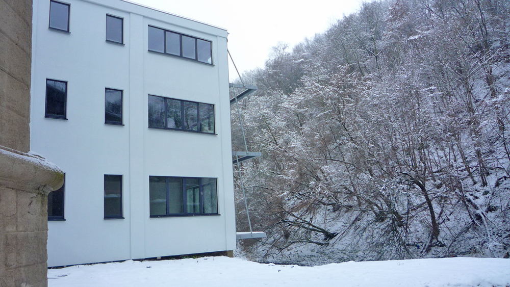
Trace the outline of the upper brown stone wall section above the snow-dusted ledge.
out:
[[[32,0],[0,0],[0,145],[30,149]]]

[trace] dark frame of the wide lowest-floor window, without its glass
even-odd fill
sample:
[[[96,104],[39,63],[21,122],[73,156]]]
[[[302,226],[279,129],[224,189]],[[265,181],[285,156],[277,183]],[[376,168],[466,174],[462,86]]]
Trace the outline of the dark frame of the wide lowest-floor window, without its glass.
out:
[[[216,216],[220,215],[219,206],[218,206],[218,178],[216,177],[185,177],[185,176],[158,176],[158,175],[150,175],[150,177],[165,177],[165,194],[166,194],[166,214],[165,215],[150,215],[150,202],[149,202],[149,218],[158,218],[158,217],[185,217],[185,216]],[[183,213],[169,213],[169,196],[170,196],[170,188],[169,188],[169,179],[170,178],[181,178],[183,180]],[[186,194],[186,179],[198,179],[198,189],[199,189],[199,212],[198,213],[189,213],[187,212],[187,194]],[[216,213],[203,213],[203,184],[202,179],[214,179],[216,184]],[[149,187],[149,200],[150,200],[150,187]]]

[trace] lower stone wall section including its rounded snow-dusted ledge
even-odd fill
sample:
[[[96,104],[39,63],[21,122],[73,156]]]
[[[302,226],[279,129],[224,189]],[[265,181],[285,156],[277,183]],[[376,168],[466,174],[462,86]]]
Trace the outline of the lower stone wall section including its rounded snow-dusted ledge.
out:
[[[0,146],[0,286],[47,286],[47,195],[63,181],[42,156]]]

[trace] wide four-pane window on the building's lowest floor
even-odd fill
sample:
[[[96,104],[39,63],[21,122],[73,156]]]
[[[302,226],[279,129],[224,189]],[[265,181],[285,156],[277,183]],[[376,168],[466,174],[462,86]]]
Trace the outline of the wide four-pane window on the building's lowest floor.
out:
[[[218,214],[216,178],[149,176],[150,217]]]

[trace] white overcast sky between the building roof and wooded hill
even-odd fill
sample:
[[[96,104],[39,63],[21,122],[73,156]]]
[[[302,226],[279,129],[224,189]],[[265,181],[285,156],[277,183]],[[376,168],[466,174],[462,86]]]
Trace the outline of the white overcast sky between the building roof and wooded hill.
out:
[[[278,42],[293,47],[357,11],[362,0],[130,0],[227,29],[228,50],[239,72],[263,67]],[[237,77],[230,64],[230,78]]]

